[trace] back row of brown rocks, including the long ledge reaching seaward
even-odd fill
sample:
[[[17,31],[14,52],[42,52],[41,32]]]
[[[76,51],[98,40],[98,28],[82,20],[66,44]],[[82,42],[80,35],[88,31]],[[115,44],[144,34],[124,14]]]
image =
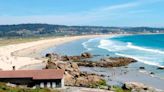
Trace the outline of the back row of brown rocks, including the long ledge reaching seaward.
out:
[[[133,62],[137,62],[132,58],[127,57],[109,57],[103,58],[99,61],[87,61],[87,58],[92,58],[93,56],[88,53],[82,53],[80,56],[59,56],[57,54],[46,54],[48,57],[48,61],[73,61],[76,62],[79,66],[87,66],[87,67],[119,67],[125,66]]]

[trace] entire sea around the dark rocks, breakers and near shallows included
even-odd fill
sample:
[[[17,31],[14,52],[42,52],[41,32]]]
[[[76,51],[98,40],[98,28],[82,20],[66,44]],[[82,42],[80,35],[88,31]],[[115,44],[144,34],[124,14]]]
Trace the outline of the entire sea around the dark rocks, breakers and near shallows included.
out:
[[[118,76],[114,76],[114,79],[112,79],[115,81],[112,82],[107,78],[110,84],[118,84],[118,80],[121,82],[139,81],[158,87],[157,84],[164,81],[164,70],[157,69],[159,66],[164,66],[164,34],[120,35],[80,39],[48,48],[41,54],[80,55],[83,52],[90,52],[93,55],[100,56],[100,58],[123,56],[134,58],[138,61],[137,63],[129,64],[128,68],[80,68],[81,71],[90,71],[107,76],[111,76],[111,73],[115,71],[118,74]],[[145,69],[141,70],[140,67],[145,67]],[[122,75],[120,71],[128,72],[126,75]]]

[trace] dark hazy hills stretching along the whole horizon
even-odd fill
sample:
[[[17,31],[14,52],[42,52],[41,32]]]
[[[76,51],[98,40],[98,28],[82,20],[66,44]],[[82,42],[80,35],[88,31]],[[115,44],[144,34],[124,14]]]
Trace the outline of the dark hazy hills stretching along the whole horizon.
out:
[[[106,33],[164,33],[164,28],[66,26],[50,24],[0,25],[0,37],[39,37]]]

